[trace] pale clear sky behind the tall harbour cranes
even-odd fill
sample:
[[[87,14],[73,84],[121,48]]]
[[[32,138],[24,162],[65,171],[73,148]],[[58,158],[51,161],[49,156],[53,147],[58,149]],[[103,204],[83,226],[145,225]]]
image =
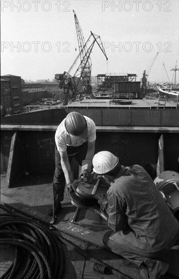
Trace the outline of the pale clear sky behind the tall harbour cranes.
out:
[[[150,69],[149,82],[171,81],[179,64],[178,6],[177,0],[2,0],[1,75],[36,81],[68,72],[79,53],[74,10],[84,40],[98,34],[108,57],[95,43],[92,76],[137,74],[140,81]]]

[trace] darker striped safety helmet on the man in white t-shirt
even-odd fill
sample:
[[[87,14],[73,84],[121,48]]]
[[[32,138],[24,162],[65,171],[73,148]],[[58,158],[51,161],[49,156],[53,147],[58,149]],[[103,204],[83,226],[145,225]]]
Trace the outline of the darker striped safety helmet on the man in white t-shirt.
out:
[[[87,127],[85,118],[77,112],[71,112],[65,119],[65,128],[72,135],[82,134]]]

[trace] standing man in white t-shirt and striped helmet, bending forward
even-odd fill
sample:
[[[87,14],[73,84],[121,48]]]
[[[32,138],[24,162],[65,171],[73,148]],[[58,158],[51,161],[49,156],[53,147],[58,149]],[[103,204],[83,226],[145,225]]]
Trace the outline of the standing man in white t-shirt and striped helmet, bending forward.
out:
[[[95,122],[78,112],[71,112],[60,123],[55,134],[55,173],[53,194],[55,197],[55,214],[61,209],[64,198],[65,182],[67,191],[72,191],[74,181],[70,163],[75,157],[81,166],[81,177],[87,179],[92,170],[92,159],[95,154],[96,126]],[[53,215],[53,208],[48,213]]]

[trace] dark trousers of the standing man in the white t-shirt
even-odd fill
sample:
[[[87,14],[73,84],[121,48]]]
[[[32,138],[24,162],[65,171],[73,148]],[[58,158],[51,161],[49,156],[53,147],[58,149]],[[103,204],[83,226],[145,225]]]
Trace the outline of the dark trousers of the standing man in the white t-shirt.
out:
[[[81,166],[82,160],[85,159],[87,153],[87,142],[84,144],[74,147],[67,146],[67,154],[69,163],[73,157],[75,157],[78,164]],[[55,172],[53,179],[53,194],[55,196],[56,201],[62,201],[64,198],[64,190],[65,190],[65,175],[61,165],[61,157],[60,153],[55,146]]]

